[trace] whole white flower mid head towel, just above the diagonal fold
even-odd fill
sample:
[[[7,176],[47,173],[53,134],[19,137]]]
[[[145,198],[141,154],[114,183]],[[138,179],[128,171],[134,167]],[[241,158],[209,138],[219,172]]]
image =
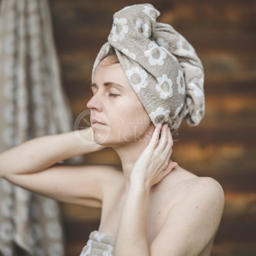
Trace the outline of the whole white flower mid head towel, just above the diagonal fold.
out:
[[[157,58],[154,58],[152,55],[156,54],[155,51],[158,51],[157,53]],[[155,44],[154,42],[151,42],[148,45],[148,50],[146,50],[144,52],[145,56],[147,56],[149,58],[149,64],[151,66],[155,66],[156,64],[159,66],[162,66],[164,64],[164,59],[166,58],[167,54],[166,52],[159,47],[157,44]]]

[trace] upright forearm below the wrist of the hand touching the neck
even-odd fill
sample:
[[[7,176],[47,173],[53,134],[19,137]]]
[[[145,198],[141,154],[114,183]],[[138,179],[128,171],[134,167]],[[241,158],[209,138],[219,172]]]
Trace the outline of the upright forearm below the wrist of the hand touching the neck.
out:
[[[149,256],[146,223],[148,188],[131,184],[115,240],[114,256]]]

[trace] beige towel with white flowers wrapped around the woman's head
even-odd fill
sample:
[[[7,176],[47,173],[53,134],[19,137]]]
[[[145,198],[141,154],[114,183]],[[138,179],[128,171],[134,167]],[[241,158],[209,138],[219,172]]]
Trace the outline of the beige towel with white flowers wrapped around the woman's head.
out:
[[[182,119],[196,126],[205,113],[204,71],[195,49],[175,29],[156,22],[160,12],[151,4],[127,6],[114,14],[108,42],[92,70],[110,46],[132,88],[157,126],[167,122],[177,131]]]

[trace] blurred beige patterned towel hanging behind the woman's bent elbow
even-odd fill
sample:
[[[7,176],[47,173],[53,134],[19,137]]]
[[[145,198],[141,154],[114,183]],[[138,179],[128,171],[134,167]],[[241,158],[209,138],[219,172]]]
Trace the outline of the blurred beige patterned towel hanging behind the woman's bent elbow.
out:
[[[71,131],[74,122],[61,88],[47,0],[0,4],[3,152],[35,137]],[[0,254],[21,255],[20,249],[25,255],[65,255],[63,231],[58,202],[0,178]]]

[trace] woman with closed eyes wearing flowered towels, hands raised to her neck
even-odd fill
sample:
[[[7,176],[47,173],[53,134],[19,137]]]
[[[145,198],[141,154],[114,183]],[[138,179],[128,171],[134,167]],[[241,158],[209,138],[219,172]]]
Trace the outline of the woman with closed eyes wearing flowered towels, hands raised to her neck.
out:
[[[190,103],[186,105],[188,108],[179,108],[180,101],[186,98],[182,93],[184,85],[180,86],[178,79],[175,80],[179,84],[177,89],[173,87],[171,91],[169,87],[167,91],[156,85],[159,94],[148,94],[148,84],[150,79],[153,81],[155,72],[159,75],[168,67],[165,62],[168,58],[177,62],[163,48],[159,48],[160,57],[156,62],[153,55],[148,55],[147,48],[144,53],[148,59],[137,57],[144,42],[140,36],[147,40],[151,37],[147,26],[155,22],[152,11],[158,12],[149,4],[135,5],[114,15],[112,37],[108,38],[111,47],[101,48],[93,68],[93,97],[87,104],[91,109],[92,127],[79,131],[83,138],[93,138],[96,143],[86,146],[74,132],[69,132],[35,138],[0,155],[0,175],[8,181],[60,201],[102,208],[99,229],[91,232],[81,256],[209,256],[221,220],[224,207],[221,185],[213,178],[198,177],[169,160],[173,146],[171,129],[176,130],[188,113],[190,117],[197,115],[197,123],[200,121],[200,111],[190,111],[192,107],[199,108],[195,96],[202,94],[197,91],[193,95],[192,92],[194,102],[186,101]],[[139,40],[134,53],[135,45],[129,47],[123,41],[128,31],[132,31],[126,23],[132,15],[141,19],[138,23],[134,20],[135,30],[141,30],[127,37],[127,40]],[[122,23],[121,28],[118,22]],[[121,51],[123,46],[127,47]],[[134,59],[137,61],[133,62]],[[148,60],[154,69],[145,64]],[[180,67],[176,67],[176,74],[180,74]],[[187,68],[188,63],[182,67],[187,74],[186,81],[192,69]],[[143,83],[141,77],[129,73],[131,69],[144,77]],[[174,70],[173,65],[172,74]],[[169,80],[166,81],[170,86]],[[161,81],[157,81],[160,85]],[[156,107],[158,110],[161,106],[164,108],[173,95],[171,107],[175,111],[162,115],[162,119],[162,112],[152,114],[156,113]],[[162,105],[155,106],[157,104]],[[191,125],[192,121],[191,118]],[[162,123],[162,127],[157,122]],[[58,164],[105,146],[114,148],[120,156],[121,171],[110,165],[72,167]]]

